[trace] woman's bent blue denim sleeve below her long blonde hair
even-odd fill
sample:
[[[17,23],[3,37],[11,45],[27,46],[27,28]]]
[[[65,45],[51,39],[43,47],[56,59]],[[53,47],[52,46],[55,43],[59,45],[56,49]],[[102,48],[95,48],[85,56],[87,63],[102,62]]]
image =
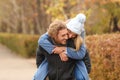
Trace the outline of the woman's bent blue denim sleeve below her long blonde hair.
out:
[[[78,51],[75,51],[75,49],[73,48],[67,47],[66,54],[70,58],[81,60],[84,58],[85,52],[86,52],[86,47],[84,44],[82,44]]]

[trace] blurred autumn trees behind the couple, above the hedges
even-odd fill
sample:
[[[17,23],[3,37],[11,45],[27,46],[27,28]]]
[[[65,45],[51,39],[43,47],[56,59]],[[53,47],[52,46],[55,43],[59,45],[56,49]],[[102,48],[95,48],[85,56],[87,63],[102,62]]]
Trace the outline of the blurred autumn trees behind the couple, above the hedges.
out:
[[[120,31],[119,0],[1,0],[0,32],[42,34],[55,19],[83,12],[87,34]]]

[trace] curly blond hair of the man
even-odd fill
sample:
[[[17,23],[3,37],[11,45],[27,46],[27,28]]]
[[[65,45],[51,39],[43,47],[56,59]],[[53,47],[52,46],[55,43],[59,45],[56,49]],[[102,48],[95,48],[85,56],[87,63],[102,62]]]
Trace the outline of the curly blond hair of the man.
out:
[[[52,22],[48,28],[48,35],[52,38],[56,38],[58,35],[58,32],[62,29],[66,29],[66,25],[61,20],[55,20]]]

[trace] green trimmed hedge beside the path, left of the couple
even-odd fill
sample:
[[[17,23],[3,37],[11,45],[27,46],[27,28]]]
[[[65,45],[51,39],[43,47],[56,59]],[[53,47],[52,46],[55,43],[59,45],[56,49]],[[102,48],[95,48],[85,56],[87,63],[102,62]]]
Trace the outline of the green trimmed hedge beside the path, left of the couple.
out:
[[[0,43],[23,57],[35,57],[39,35],[0,33]]]

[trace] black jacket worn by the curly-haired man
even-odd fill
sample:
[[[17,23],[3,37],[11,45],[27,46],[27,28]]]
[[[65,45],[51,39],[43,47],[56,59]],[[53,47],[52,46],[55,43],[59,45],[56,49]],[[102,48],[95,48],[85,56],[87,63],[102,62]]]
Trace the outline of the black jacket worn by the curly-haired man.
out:
[[[51,39],[49,39],[49,41],[53,43]],[[73,44],[67,44],[67,46],[74,47]],[[76,60],[69,58],[68,61],[63,62],[61,61],[59,55],[48,54],[41,46],[39,46],[37,51],[37,66],[41,64],[45,57],[47,58],[49,80],[74,80],[73,72]],[[38,57],[42,58],[40,59]]]

